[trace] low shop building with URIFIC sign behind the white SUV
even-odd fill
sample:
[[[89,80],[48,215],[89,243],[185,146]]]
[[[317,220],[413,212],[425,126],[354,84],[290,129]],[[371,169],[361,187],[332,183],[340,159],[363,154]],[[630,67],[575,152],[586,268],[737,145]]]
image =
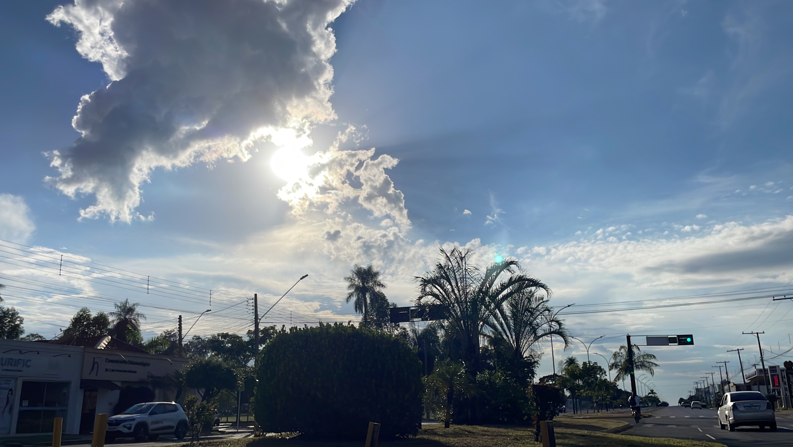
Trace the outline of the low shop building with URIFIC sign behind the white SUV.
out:
[[[175,373],[185,358],[152,355],[109,336],[67,346],[59,340],[0,340],[0,436],[89,433],[97,413],[182,399]]]

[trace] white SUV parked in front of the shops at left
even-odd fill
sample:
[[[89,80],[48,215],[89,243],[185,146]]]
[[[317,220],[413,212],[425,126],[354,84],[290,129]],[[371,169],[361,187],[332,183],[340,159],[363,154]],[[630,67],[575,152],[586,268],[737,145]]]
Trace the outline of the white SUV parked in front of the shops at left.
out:
[[[105,441],[117,437],[135,437],[135,440],[154,441],[161,434],[174,434],[183,439],[187,434],[187,415],[178,403],[148,402],[127,408],[121,415],[107,419]]]

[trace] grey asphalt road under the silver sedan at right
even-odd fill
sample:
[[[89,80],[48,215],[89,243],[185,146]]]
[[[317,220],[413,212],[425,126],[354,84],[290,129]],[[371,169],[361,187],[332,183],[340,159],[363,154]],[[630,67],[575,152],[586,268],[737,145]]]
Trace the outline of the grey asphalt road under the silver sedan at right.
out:
[[[642,410],[646,412],[649,409]],[[622,434],[713,441],[728,447],[793,445],[793,418],[779,413],[776,415],[776,432],[761,431],[757,427],[737,427],[734,432],[719,430],[715,410],[684,407],[654,408],[649,418],[642,418],[642,422],[632,425],[633,428]]]

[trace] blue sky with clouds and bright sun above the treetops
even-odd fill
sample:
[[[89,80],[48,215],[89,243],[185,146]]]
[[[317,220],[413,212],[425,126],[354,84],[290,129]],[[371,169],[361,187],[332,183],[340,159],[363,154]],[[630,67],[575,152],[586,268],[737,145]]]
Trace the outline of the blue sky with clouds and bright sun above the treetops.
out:
[[[743,331],[780,365],[791,21],[789,2],[2,2],[3,304],[52,337],[129,299],[153,336],[211,290],[190,334],[243,332],[254,293],[270,308],[308,273],[265,321],[346,322],[354,264],[410,305],[459,245],[575,304],[592,357],[694,334],[646,348],[670,402],[718,361],[739,375],[726,350],[751,369]]]

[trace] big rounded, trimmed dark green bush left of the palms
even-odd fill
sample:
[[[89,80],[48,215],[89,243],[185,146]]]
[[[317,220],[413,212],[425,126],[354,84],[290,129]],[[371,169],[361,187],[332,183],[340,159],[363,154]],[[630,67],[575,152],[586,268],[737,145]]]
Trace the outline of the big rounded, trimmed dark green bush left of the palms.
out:
[[[363,438],[421,426],[421,363],[400,338],[353,326],[293,327],[259,358],[256,422],[266,432]]]

